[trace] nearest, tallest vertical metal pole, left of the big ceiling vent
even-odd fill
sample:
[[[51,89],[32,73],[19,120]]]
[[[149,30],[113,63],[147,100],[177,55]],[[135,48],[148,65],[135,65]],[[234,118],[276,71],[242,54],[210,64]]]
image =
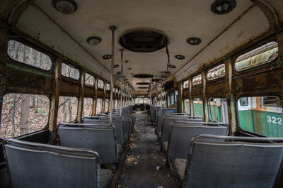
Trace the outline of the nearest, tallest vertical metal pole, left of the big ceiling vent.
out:
[[[115,29],[116,26],[110,26],[110,30],[112,32],[112,58],[111,58],[111,82],[110,82],[110,119],[109,123],[112,125],[112,113],[113,113],[113,87],[114,87],[114,82],[113,82],[113,68],[114,68],[114,45],[115,45]]]

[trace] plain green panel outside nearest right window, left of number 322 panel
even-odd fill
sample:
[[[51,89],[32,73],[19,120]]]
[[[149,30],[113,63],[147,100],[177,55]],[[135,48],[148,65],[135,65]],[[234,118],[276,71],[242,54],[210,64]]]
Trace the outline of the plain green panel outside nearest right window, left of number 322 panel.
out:
[[[238,111],[238,119],[244,131],[255,132],[253,130],[253,112],[250,110]]]

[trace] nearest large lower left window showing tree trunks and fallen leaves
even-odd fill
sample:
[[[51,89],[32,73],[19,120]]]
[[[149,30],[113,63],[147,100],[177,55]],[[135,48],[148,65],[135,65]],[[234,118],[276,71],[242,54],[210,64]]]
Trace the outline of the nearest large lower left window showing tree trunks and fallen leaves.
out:
[[[42,130],[47,125],[49,104],[45,95],[6,94],[3,97],[0,138]]]

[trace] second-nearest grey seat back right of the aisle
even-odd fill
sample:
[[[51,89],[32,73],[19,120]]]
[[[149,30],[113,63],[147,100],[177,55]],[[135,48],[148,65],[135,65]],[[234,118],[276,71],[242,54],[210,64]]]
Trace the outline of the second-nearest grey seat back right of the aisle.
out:
[[[217,123],[212,123],[209,126],[195,126],[194,123],[183,123],[182,126],[176,126],[175,123],[173,123],[167,150],[168,161],[171,162],[171,160],[174,160],[176,158],[186,159],[189,152],[191,140],[197,134],[226,136],[227,132],[227,126],[221,126]],[[204,139],[215,141],[215,139],[212,138]]]

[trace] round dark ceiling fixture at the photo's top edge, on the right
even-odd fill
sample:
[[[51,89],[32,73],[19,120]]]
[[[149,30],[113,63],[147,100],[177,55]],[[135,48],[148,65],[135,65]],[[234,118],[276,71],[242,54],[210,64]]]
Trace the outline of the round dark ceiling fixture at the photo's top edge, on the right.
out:
[[[233,11],[236,7],[236,0],[216,0],[212,4],[212,12],[216,14],[224,14]]]

